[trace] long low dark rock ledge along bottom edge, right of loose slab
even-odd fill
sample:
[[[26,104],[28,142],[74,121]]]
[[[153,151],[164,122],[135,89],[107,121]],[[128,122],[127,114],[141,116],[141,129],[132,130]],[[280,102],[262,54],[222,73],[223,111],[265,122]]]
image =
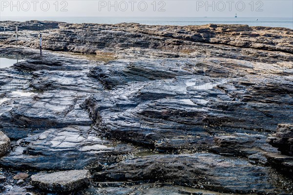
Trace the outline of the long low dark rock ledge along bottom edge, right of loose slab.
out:
[[[176,170],[176,171],[175,171]],[[175,185],[229,193],[286,194],[274,179],[286,179],[271,168],[210,153],[135,157],[94,174],[96,179],[167,181]],[[284,180],[285,179],[285,180]],[[291,185],[291,183],[287,183]]]

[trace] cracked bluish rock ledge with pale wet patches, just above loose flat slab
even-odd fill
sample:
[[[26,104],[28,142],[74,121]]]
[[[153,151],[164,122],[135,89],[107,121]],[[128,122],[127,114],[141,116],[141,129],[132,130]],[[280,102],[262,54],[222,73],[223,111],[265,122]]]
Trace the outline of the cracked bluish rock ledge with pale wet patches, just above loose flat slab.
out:
[[[115,144],[95,135],[87,126],[48,129],[19,140],[14,151],[1,159],[1,164],[39,170],[94,169],[133,150],[127,144]]]

